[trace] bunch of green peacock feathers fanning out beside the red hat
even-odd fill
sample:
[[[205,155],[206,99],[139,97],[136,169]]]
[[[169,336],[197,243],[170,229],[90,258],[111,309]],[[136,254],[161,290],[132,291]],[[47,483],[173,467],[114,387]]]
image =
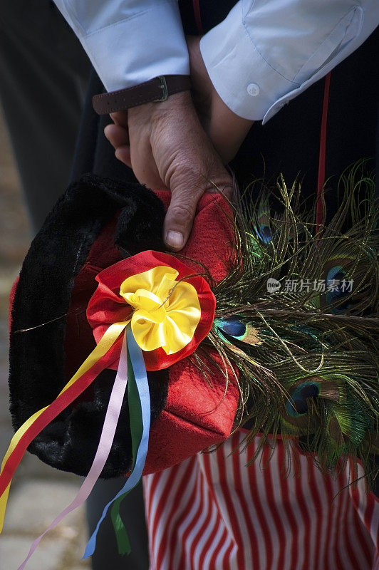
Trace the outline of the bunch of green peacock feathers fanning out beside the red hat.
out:
[[[317,234],[298,181],[288,189],[281,178],[271,195],[239,204],[207,342],[238,380],[236,426],[249,427],[246,445],[258,432],[261,445],[268,438],[272,445],[270,434],[280,432],[286,445],[298,441],[312,452],[321,469],[338,472],[354,457],[373,480],[378,211],[364,171],[360,163],[341,178],[341,207]],[[196,358],[206,369],[206,350]]]

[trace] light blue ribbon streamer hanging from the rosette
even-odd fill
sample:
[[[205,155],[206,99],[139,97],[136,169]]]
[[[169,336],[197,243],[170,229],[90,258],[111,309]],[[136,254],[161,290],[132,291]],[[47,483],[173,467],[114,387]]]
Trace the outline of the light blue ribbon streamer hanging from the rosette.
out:
[[[116,494],[113,499],[105,505],[103,514],[96,525],[95,531],[90,537],[87,546],[85,546],[85,553],[83,559],[88,558],[88,556],[92,556],[95,551],[96,547],[96,537],[98,535],[98,529],[100,528],[100,524],[105,519],[105,515],[108,512],[109,507],[116,499],[118,499],[122,494],[127,493],[135,485],[140,481],[142,477],[142,471],[145,467],[146,455],[147,455],[147,447],[149,445],[149,431],[150,431],[150,392],[149,392],[149,384],[147,383],[147,374],[146,374],[146,367],[145,361],[143,360],[142,351],[140,347],[135,342],[135,338],[132,333],[132,329],[130,325],[128,325],[126,329],[127,341],[128,341],[128,351],[130,356],[130,361],[133,366],[133,371],[135,375],[135,382],[137,383],[137,390],[138,394],[140,395],[140,402],[141,402],[141,410],[142,410],[142,438],[140,442],[140,447],[138,447],[137,451],[137,459],[135,460],[135,467],[133,471],[130,473],[127,482],[123,486],[123,488]]]

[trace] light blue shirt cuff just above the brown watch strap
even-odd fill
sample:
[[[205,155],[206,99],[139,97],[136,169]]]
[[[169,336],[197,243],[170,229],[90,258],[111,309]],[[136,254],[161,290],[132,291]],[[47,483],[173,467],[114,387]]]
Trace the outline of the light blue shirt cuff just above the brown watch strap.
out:
[[[164,1],[84,36],[83,48],[107,91],[162,75],[189,75],[190,63],[175,1]]]

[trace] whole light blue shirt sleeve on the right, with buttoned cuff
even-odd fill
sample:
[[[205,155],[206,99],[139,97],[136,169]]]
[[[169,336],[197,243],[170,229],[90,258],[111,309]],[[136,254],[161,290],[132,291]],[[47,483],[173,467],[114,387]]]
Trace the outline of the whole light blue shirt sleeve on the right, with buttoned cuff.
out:
[[[224,103],[266,123],[378,24],[378,0],[239,0],[200,50]]]

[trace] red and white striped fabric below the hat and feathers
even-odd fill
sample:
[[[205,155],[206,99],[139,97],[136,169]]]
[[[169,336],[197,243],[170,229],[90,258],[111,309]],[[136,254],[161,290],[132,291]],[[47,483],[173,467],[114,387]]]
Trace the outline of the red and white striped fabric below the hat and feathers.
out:
[[[230,455],[243,437],[144,477],[150,570],[379,569],[379,501],[363,480],[344,489],[348,468],[333,480],[296,451],[287,475],[281,440],[246,467],[258,439]]]

